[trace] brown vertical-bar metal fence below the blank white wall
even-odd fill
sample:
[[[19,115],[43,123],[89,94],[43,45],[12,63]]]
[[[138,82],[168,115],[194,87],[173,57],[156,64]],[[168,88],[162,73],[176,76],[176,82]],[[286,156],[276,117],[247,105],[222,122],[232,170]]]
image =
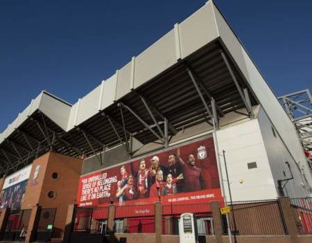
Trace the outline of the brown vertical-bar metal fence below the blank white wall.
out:
[[[230,206],[229,224],[236,235],[285,235],[286,226],[279,201],[236,201]],[[223,233],[227,234],[223,215]]]

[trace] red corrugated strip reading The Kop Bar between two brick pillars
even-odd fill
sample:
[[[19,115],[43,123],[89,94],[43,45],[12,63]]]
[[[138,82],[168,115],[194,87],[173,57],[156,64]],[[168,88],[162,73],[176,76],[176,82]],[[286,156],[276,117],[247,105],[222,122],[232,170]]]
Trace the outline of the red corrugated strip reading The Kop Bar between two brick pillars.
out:
[[[155,215],[154,204],[116,206],[115,218],[121,217],[139,217]]]

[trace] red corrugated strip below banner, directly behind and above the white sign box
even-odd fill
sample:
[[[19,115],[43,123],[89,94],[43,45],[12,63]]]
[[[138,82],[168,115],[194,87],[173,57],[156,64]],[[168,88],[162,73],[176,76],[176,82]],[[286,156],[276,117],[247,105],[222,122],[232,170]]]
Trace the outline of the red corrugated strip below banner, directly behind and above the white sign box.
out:
[[[210,204],[172,204],[162,206],[163,215],[180,215],[185,212],[202,213],[210,211]]]

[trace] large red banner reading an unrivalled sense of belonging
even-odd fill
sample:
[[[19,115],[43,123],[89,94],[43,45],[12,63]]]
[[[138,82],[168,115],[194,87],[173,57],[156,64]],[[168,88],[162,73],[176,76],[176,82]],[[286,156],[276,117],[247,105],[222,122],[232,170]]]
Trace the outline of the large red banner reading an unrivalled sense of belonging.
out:
[[[213,138],[80,177],[79,206],[222,200]]]

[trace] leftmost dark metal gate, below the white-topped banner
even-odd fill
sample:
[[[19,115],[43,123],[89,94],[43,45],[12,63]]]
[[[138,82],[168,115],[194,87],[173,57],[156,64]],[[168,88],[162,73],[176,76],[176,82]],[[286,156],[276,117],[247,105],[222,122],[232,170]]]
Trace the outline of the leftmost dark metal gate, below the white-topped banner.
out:
[[[21,231],[28,228],[29,218],[31,217],[31,209],[11,210],[8,214],[6,230],[2,240],[19,241],[21,240]]]

